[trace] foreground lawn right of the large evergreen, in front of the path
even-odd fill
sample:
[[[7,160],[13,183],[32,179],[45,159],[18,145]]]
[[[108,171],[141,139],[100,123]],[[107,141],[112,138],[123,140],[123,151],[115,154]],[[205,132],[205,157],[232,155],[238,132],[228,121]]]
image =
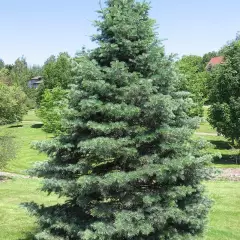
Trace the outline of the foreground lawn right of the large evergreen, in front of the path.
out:
[[[207,240],[240,239],[240,182],[208,182],[215,201],[210,213]]]

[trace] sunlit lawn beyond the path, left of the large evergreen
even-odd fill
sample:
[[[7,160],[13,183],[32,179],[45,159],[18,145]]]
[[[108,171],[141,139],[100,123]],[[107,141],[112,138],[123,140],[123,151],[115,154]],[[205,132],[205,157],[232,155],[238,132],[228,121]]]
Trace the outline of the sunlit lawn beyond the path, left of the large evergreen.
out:
[[[38,151],[31,148],[31,143],[36,140],[49,139],[51,134],[42,131],[41,124],[35,121],[39,121],[39,119],[34,115],[34,111],[30,111],[24,117],[24,122],[4,126],[16,137],[19,148],[17,157],[8,163],[4,171],[24,174],[24,171],[31,168],[33,163],[46,159],[44,154],[39,154]]]

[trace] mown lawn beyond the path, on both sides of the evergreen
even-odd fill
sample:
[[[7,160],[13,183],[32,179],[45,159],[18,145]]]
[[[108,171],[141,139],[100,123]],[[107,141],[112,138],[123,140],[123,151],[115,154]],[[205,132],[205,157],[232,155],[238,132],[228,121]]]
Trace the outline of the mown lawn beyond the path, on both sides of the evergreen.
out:
[[[206,108],[205,108],[206,109]],[[206,110],[205,110],[206,111]],[[24,116],[23,122],[15,125],[4,126],[7,131],[16,137],[18,143],[18,154],[15,159],[10,161],[4,171],[25,174],[25,170],[32,167],[37,161],[46,159],[44,154],[39,154],[36,150],[31,148],[32,142],[36,140],[46,140],[52,137],[51,134],[46,134],[41,129],[40,119],[35,115],[35,112],[29,111]],[[208,130],[206,130],[208,129]],[[211,126],[208,122],[203,122],[198,129],[199,132],[211,131]],[[214,133],[214,132],[212,132]],[[214,165],[220,168],[238,168],[240,164],[236,164],[237,150],[232,150],[229,142],[222,136],[195,136],[209,140],[213,147],[209,149],[212,153],[221,153],[222,158],[215,158]]]

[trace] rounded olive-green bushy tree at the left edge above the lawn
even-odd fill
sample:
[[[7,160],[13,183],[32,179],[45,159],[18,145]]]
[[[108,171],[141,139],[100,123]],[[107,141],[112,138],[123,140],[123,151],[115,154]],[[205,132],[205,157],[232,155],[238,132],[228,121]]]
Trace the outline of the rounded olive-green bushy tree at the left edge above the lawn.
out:
[[[26,99],[20,88],[0,84],[0,125],[21,121],[27,112]]]

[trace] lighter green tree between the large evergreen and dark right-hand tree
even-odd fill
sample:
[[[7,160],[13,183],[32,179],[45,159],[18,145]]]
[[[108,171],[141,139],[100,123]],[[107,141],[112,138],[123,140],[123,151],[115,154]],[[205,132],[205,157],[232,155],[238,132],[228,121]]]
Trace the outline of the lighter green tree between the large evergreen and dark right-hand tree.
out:
[[[192,94],[195,105],[191,109],[191,115],[203,116],[203,105],[207,100],[207,79],[205,64],[200,56],[183,56],[177,67],[183,75],[180,81],[180,89]]]

